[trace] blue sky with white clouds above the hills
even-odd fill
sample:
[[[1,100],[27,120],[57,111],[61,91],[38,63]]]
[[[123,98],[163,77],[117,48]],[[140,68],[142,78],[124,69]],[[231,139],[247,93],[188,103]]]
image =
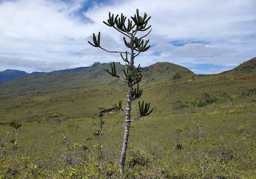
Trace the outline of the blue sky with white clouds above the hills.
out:
[[[147,12],[151,48],[135,60],[182,65],[197,74],[230,70],[256,57],[255,0],[0,0],[0,71],[54,71],[121,62],[87,41],[124,50],[122,36],[103,24],[108,13]]]

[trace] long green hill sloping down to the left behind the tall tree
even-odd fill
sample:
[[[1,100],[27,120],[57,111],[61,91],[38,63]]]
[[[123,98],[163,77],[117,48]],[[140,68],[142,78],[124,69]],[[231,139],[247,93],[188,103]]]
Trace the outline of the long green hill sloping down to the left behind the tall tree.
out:
[[[53,73],[30,74],[0,84],[0,95],[41,93],[85,87],[88,84],[111,80],[104,71],[107,64],[95,63],[80,71],[57,71]]]

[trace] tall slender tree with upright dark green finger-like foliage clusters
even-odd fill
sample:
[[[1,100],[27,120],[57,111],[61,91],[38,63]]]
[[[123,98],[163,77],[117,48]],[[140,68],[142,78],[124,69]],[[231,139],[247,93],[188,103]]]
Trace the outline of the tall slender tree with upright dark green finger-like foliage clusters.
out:
[[[148,17],[146,13],[143,16],[140,16],[138,9],[136,10],[134,16],[128,19],[123,14],[121,14],[120,16],[114,16],[114,14],[111,15],[111,13],[109,12],[108,21],[103,21],[103,23],[114,28],[114,30],[124,35],[124,44],[128,49],[126,52],[111,51],[102,47],[100,44],[100,32],[98,33],[98,36],[93,33],[93,42],[88,41],[89,44],[91,44],[93,47],[98,47],[109,53],[120,54],[122,60],[124,60],[124,62],[126,63],[124,75],[122,76],[116,73],[115,63],[111,63],[111,70],[105,70],[106,72],[111,74],[111,76],[114,76],[115,78],[118,78],[119,80],[125,82],[128,88],[127,105],[124,109],[124,111],[126,111],[124,140],[119,165],[121,173],[124,173],[130,123],[132,121],[139,120],[142,116],[147,116],[153,111],[153,109],[150,110],[150,103],[144,103],[144,101],[139,101],[139,117],[132,119],[130,114],[132,110],[132,101],[140,98],[143,92],[143,90],[139,89],[139,83],[142,80],[142,68],[140,67],[140,65],[137,67],[134,66],[134,59],[141,52],[145,52],[150,48],[150,46],[148,45],[149,40],[144,41],[144,38],[148,36],[148,34],[151,32],[151,25],[148,25],[148,20],[150,20],[150,18],[151,17]],[[122,101],[119,101],[118,108],[120,109],[122,108],[121,104]]]

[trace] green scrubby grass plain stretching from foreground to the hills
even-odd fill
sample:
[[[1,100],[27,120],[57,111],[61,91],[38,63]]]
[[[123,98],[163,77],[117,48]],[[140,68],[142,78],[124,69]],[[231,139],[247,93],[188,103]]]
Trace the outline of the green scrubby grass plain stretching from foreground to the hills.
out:
[[[194,79],[187,71],[184,78],[172,80],[166,65],[144,72],[142,100],[150,101],[154,111],[132,122],[126,178],[256,178],[255,70],[238,68]],[[98,106],[125,101],[126,87],[100,70],[90,80],[80,73],[65,73],[75,76],[70,81],[32,83],[33,91],[31,83],[16,89],[0,84],[0,151],[6,146],[0,178],[121,177],[125,114],[103,116],[103,158],[98,158],[92,132],[100,128]],[[250,79],[237,79],[245,74]],[[133,118],[139,114],[137,101],[132,113]],[[12,121],[21,122],[20,133],[9,125]]]

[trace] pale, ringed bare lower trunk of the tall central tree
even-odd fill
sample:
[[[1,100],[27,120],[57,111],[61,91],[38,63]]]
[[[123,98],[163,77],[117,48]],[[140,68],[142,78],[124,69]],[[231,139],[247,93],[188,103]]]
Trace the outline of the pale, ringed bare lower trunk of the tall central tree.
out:
[[[122,153],[120,159],[120,172],[124,173],[124,165],[126,162],[126,153],[127,153],[127,146],[128,146],[128,138],[130,132],[130,111],[132,106],[132,84],[129,84],[128,95],[127,95],[127,106],[126,106],[126,126],[124,129],[124,140],[122,143]]]

